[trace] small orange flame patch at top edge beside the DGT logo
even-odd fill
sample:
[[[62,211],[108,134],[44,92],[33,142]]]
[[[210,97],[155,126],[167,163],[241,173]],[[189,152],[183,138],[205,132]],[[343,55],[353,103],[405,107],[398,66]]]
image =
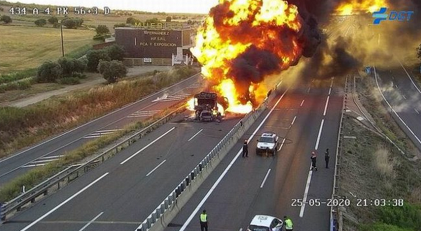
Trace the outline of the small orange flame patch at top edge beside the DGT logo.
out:
[[[341,3],[336,11],[339,15],[373,13],[381,7],[388,7],[387,0],[351,0]]]

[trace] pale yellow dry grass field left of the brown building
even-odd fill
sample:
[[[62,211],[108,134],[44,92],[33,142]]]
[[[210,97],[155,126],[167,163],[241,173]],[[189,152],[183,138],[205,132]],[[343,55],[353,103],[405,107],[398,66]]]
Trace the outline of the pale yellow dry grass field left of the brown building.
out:
[[[34,68],[61,57],[60,29],[0,24],[0,31],[0,73]],[[63,29],[63,35],[65,53],[95,43],[91,30]]]

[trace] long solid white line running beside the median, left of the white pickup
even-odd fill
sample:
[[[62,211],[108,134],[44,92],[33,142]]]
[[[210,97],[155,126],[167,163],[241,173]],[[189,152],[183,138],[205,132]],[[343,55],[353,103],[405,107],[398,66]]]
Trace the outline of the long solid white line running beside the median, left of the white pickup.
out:
[[[270,112],[266,115],[266,117],[264,117],[263,121],[259,124],[259,126],[256,128],[256,130],[254,130],[253,134],[251,134],[251,136],[250,136],[250,138],[248,138],[248,141],[247,142],[250,142],[254,138],[254,136],[256,135],[256,133],[258,132],[258,130],[260,130],[260,128],[263,126],[263,124],[266,122],[266,120],[272,114],[272,112],[274,111],[274,109],[278,106],[279,102],[282,100],[282,98],[288,92],[288,89],[278,99],[278,101],[273,106],[273,108],[270,110]],[[197,212],[199,212],[199,209],[203,206],[203,204],[205,204],[205,202],[206,202],[206,200],[208,200],[210,194],[213,193],[213,191],[216,189],[216,187],[218,186],[218,184],[225,177],[226,173],[228,173],[228,171],[231,169],[232,165],[234,165],[235,161],[237,161],[237,159],[241,155],[241,153],[242,153],[242,148],[237,152],[237,154],[231,160],[231,162],[229,163],[229,165],[225,168],[224,172],[219,176],[218,180],[216,180],[216,182],[213,184],[213,186],[209,189],[208,193],[206,193],[206,195],[203,197],[203,199],[197,205],[197,207],[195,208],[195,210],[193,210],[192,214],[190,214],[189,218],[187,218],[186,222],[183,224],[183,226],[181,226],[181,228],[180,228],[179,231],[184,231],[187,228],[187,226],[190,224],[190,222],[192,222],[192,220],[193,220],[193,218],[195,218]]]

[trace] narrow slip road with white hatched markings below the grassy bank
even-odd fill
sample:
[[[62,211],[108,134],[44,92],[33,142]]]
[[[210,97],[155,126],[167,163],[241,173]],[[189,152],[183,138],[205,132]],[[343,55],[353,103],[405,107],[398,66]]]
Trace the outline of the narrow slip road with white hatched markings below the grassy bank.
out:
[[[103,117],[29,147],[0,160],[0,186],[33,167],[59,159],[92,139],[113,133],[131,122],[141,121],[192,96],[202,88],[200,74],[128,104]]]

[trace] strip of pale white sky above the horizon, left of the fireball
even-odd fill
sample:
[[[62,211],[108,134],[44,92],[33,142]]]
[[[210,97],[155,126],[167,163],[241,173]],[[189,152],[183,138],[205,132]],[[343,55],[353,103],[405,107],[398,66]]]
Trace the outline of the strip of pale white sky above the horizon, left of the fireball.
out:
[[[14,0],[8,0],[15,2]],[[19,0],[21,3],[45,5],[86,6],[111,10],[137,10],[166,13],[208,13],[218,0]]]

